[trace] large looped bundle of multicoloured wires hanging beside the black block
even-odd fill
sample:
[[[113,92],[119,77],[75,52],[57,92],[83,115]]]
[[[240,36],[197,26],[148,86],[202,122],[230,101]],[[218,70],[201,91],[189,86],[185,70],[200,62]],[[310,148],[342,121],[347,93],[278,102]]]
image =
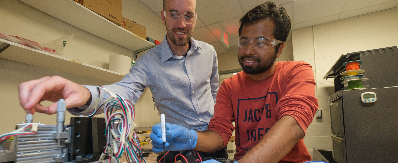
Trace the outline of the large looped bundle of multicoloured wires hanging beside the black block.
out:
[[[135,118],[133,104],[101,86],[97,86],[97,88],[111,94],[111,98],[104,101],[105,104],[96,108],[97,111],[93,111],[94,114],[98,113],[103,106],[106,122],[105,136],[107,142],[103,155],[101,155],[98,162],[102,161],[101,159],[105,157],[105,153],[108,153],[109,160],[119,162],[118,158],[124,152],[129,163],[146,163],[146,160],[142,157],[139,138],[132,129]],[[116,109],[120,109],[122,112],[115,112]]]

